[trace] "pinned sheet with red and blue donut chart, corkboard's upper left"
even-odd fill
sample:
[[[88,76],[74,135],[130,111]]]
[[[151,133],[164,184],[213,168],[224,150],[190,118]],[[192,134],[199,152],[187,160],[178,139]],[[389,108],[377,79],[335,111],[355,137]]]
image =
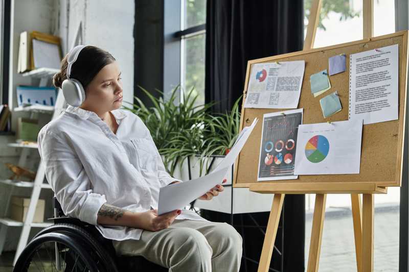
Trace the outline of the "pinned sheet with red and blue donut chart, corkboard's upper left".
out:
[[[245,108],[297,108],[305,61],[256,63],[248,80]]]

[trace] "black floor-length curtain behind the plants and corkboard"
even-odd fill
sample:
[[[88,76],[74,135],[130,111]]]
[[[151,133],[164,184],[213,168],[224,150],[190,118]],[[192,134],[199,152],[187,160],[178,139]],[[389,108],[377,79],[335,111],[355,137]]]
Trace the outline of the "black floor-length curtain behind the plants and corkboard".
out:
[[[206,102],[218,102],[212,111],[230,110],[243,93],[248,60],[300,51],[303,39],[302,0],[208,0]],[[284,214],[283,271],[304,271],[304,195],[287,194]]]

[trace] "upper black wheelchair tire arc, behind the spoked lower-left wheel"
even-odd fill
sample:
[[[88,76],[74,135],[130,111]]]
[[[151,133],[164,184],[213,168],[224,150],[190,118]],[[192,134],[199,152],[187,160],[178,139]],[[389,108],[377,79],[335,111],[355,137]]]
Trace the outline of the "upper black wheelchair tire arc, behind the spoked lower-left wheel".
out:
[[[98,232],[98,230],[95,231]],[[111,251],[109,253],[109,250],[101,244],[101,241],[98,241],[92,234],[86,231],[84,227],[66,223],[54,224],[39,231],[37,235],[34,236],[34,238],[46,233],[54,232],[75,236],[82,242],[86,242],[87,245],[92,249],[93,254],[97,255],[97,257],[95,258],[100,259],[104,263],[103,266],[105,267],[106,272],[119,272],[116,261],[114,258],[112,258],[112,254],[116,254],[115,250],[112,248],[113,252]]]

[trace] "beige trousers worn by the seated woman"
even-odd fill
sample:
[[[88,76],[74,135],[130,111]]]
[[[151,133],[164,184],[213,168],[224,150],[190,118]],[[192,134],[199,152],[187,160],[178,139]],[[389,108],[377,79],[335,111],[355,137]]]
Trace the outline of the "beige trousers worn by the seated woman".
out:
[[[140,240],[113,240],[118,255],[142,255],[169,272],[238,272],[242,238],[229,224],[174,220],[157,232],[144,230]]]

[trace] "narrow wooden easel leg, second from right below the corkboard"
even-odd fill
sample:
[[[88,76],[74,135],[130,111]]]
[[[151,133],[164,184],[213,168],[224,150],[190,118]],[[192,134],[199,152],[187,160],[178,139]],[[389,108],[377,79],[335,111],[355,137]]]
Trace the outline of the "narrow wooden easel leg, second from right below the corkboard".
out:
[[[358,272],[362,271],[362,204],[359,194],[351,194],[352,204],[352,219],[354,222],[354,237],[355,237],[355,255],[356,255],[356,269]]]

